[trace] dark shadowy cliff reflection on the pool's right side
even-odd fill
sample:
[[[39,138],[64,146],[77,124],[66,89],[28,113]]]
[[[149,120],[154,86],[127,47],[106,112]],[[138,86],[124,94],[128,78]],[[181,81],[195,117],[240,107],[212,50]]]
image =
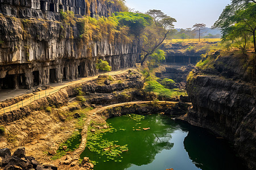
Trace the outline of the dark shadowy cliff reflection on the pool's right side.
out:
[[[197,167],[204,170],[245,169],[224,139],[217,139],[202,128],[183,126],[189,128],[184,139],[184,148]]]

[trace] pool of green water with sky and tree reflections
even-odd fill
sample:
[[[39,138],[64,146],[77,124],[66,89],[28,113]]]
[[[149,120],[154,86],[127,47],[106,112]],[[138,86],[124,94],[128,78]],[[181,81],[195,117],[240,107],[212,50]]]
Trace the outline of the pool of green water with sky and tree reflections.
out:
[[[86,156],[97,162],[94,170],[245,169],[224,139],[168,116],[154,114],[141,120],[122,116],[107,122],[114,130],[102,135],[101,141],[115,141],[113,145],[117,147],[127,145],[128,151],[112,160],[86,147],[81,158]]]

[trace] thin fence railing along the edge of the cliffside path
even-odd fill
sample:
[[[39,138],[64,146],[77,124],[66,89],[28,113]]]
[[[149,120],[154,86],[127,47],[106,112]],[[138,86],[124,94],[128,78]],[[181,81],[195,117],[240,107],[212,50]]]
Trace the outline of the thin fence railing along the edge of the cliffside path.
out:
[[[11,112],[11,111],[14,111],[16,109],[19,109],[25,105],[28,105],[28,104],[31,104],[33,101],[35,100],[38,100],[38,99],[42,99],[43,97],[46,97],[46,96],[49,96],[57,91],[59,91],[60,89],[57,89],[55,91],[51,91],[51,92],[47,92],[45,91],[44,93],[39,93],[37,95],[33,95],[31,97],[29,97],[28,99],[25,99],[25,100],[22,100],[22,101],[19,101],[18,103],[15,103],[13,105],[10,105],[9,107],[5,107],[5,108],[2,108],[0,109],[0,114],[1,113],[7,113],[7,112]]]

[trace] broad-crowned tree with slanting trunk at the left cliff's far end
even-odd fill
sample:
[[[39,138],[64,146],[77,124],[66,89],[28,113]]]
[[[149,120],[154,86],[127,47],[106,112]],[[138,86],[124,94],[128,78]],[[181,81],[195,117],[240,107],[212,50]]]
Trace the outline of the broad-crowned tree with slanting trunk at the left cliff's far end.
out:
[[[174,18],[160,10],[149,10],[146,14],[134,12],[114,12],[112,16],[120,26],[129,27],[129,33],[134,37],[134,45],[142,51],[142,61],[153,54],[174,28]]]

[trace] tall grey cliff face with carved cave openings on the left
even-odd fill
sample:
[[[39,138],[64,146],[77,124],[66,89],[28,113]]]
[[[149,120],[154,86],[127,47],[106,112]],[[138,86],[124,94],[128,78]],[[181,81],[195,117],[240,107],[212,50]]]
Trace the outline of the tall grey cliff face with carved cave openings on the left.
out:
[[[118,11],[101,1],[0,1],[0,89],[38,85],[97,74],[97,59],[107,60],[112,70],[133,67],[138,50],[125,42],[79,41],[77,25],[64,25],[59,8],[76,17],[108,16]],[[86,11],[87,10],[87,11]]]

